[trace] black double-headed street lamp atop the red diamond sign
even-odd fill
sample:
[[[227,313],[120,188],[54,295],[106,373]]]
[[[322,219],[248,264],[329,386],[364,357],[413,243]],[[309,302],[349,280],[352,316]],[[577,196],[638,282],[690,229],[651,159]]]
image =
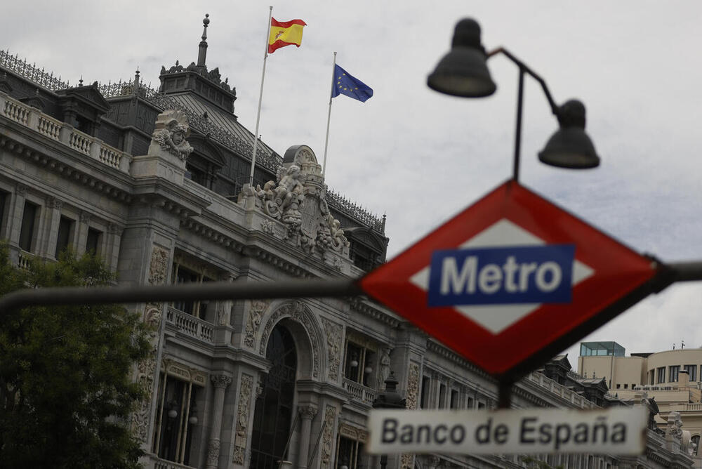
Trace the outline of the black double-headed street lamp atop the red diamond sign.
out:
[[[519,93],[517,98],[517,129],[515,131],[515,159],[512,178],[519,180],[519,152],[522,140],[522,103],[524,101],[524,74],[529,74],[541,84],[551,112],[557,117],[559,129],[538,154],[545,164],[569,169],[588,169],[600,165],[595,145],[585,133],[585,105],[569,100],[556,105],[546,82],[505,48],[489,53],[480,42],[480,25],[470,18],[456,24],[451,41],[451,51],[439,61],[427,85],[433,90],[462,98],[482,98],[494,93],[496,84],[490,77],[487,59],[502,53],[519,67]]]

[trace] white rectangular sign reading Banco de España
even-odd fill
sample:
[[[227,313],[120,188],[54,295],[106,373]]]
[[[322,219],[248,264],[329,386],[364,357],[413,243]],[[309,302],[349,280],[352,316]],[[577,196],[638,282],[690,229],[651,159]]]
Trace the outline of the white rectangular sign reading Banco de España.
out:
[[[372,410],[371,454],[642,454],[648,410]]]

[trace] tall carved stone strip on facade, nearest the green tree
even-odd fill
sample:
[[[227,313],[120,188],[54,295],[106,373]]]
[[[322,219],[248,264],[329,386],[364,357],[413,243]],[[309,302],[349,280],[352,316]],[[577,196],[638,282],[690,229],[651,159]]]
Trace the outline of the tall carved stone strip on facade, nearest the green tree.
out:
[[[168,268],[168,249],[154,244],[149,263],[148,282],[153,285],[166,281]],[[148,326],[148,336],[151,351],[149,355],[137,364],[136,381],[145,392],[144,399],[138,404],[132,414],[131,428],[133,435],[140,442],[147,442],[149,437],[149,418],[151,416],[151,399],[154,393],[154,375],[156,374],[156,357],[159,349],[159,328],[161,326],[161,303],[147,303],[144,310],[144,322]]]

